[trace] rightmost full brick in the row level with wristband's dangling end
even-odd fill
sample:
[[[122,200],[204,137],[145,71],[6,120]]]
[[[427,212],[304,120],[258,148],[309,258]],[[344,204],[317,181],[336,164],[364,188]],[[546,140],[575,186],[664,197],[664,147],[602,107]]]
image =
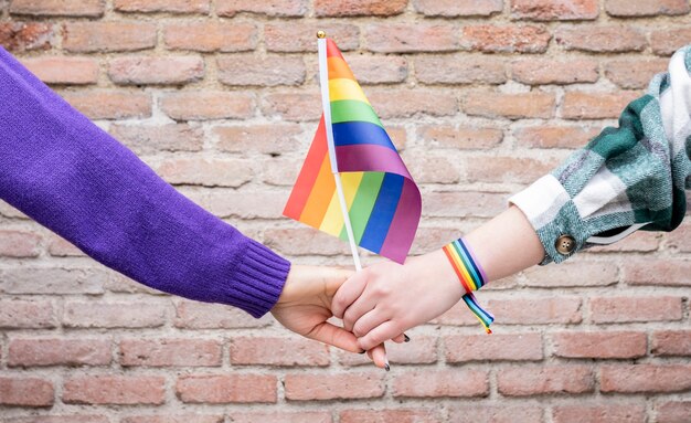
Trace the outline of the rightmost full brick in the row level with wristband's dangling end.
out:
[[[680,297],[614,297],[592,298],[591,319],[596,324],[629,321],[680,320]]]

